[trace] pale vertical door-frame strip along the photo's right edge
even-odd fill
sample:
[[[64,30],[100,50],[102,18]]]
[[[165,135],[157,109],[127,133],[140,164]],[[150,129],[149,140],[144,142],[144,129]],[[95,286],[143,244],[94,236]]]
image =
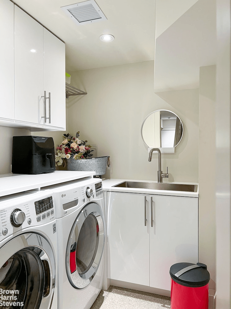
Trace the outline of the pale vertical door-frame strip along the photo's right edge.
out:
[[[231,308],[231,3],[217,1],[216,286],[217,309]]]

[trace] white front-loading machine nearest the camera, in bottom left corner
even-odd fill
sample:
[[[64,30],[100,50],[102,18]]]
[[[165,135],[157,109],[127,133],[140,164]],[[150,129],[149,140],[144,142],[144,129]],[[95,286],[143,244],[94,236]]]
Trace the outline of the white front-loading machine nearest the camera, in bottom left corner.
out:
[[[51,191],[0,198],[0,307],[57,309],[57,237]]]

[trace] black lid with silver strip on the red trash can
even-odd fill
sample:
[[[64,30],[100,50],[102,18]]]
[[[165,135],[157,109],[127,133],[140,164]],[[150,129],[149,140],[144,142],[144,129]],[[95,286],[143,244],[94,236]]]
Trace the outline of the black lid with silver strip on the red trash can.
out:
[[[170,276],[172,280],[186,287],[199,288],[210,280],[207,266],[202,263],[177,263],[171,266]]]

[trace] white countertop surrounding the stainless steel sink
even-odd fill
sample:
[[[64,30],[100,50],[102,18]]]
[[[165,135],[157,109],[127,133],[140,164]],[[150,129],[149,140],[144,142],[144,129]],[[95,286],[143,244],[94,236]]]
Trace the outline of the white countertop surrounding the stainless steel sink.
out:
[[[195,198],[198,198],[198,196],[199,196],[199,194],[198,194],[198,191],[199,191],[198,183],[194,183],[194,182],[166,182],[166,183],[197,185],[197,192],[113,187],[114,185],[118,185],[123,181],[141,181],[141,182],[153,182],[153,183],[157,182],[157,181],[152,181],[152,180],[105,179],[105,180],[102,181],[103,190],[104,191],[113,191],[113,192],[131,192],[131,193],[143,193],[143,194],[186,196],[186,197],[195,197]]]

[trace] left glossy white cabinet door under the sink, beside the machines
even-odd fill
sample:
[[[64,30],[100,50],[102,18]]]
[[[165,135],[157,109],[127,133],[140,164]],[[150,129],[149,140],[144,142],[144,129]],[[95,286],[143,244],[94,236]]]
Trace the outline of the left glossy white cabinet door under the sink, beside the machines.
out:
[[[143,194],[109,192],[108,278],[149,286],[149,218]]]

